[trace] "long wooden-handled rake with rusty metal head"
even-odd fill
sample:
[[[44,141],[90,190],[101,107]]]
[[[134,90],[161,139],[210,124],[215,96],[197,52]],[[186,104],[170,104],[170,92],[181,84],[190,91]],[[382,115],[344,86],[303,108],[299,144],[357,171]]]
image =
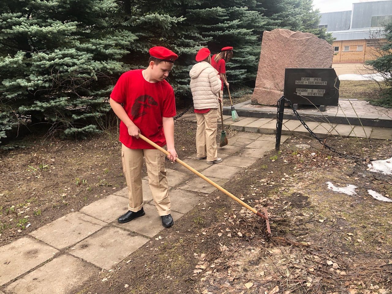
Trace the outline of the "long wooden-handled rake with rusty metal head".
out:
[[[158,149],[159,151],[165,153],[166,155],[169,155],[170,153],[168,151],[166,151],[165,149],[163,149],[162,147],[160,147],[159,145],[157,145],[156,143],[152,142],[151,140],[147,139],[145,136],[143,136],[142,134],[139,134],[139,137],[149,143],[151,146],[155,147],[156,149]],[[245,203],[244,201],[240,200],[239,198],[237,198],[236,196],[234,196],[233,194],[231,194],[229,191],[223,189],[220,185],[218,185],[217,183],[211,181],[209,178],[207,178],[206,176],[204,176],[203,174],[201,174],[200,172],[196,171],[196,169],[194,169],[193,167],[187,165],[185,162],[183,162],[180,159],[176,159],[176,162],[180,163],[183,167],[186,167],[187,169],[189,169],[189,171],[193,172],[194,174],[196,174],[197,176],[199,176],[200,178],[202,178],[203,180],[207,181],[208,183],[210,183],[212,186],[214,186],[216,189],[220,190],[221,192],[225,193],[227,196],[229,196],[230,198],[232,198],[233,200],[237,201],[238,203],[240,203],[243,207],[249,209],[250,211],[252,211],[254,214],[258,215],[261,217],[261,219],[263,220],[263,227],[264,227],[264,233],[265,236],[269,237],[271,234],[271,229],[270,229],[270,225],[269,225],[269,218],[268,218],[268,212],[267,209],[264,209],[264,214],[262,214],[261,212],[258,212],[256,209],[254,209],[253,207],[250,207],[247,203]]]

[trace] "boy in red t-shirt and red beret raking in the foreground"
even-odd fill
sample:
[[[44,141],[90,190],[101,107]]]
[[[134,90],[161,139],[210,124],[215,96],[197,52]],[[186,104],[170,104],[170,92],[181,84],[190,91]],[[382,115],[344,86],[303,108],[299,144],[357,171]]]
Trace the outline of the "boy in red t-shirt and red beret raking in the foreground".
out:
[[[149,50],[149,66],[123,73],[110,95],[110,105],[120,118],[122,163],[128,187],[128,212],[119,223],[145,215],[143,209],[142,166],[145,158],[149,186],[163,227],[174,224],[165,170],[165,154],[139,138],[143,134],[159,146],[167,145],[171,161],[177,159],[174,149],[174,91],[165,80],[178,58],[165,47]]]

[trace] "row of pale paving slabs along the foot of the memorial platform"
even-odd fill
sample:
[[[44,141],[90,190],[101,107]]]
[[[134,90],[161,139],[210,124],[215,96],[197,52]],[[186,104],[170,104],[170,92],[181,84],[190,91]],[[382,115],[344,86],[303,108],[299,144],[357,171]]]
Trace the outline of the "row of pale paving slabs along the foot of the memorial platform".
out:
[[[276,113],[275,113],[276,116]],[[187,113],[180,119],[196,122],[194,113]],[[392,140],[392,128],[379,128],[361,125],[347,125],[325,122],[305,122],[308,127],[319,137],[341,136],[343,138],[358,137]],[[239,122],[233,122],[231,116],[223,116],[223,124],[237,131],[254,132],[259,134],[276,134],[275,118],[255,118],[240,116]],[[392,124],[392,122],[391,122]],[[309,132],[299,120],[283,120],[282,134],[310,137]]]

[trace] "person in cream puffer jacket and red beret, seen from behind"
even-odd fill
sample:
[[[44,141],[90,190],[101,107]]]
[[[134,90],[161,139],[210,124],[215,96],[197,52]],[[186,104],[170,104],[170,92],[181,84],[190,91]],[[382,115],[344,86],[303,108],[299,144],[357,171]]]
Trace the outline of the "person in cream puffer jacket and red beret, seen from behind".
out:
[[[211,65],[211,52],[202,48],[196,55],[195,64],[189,76],[191,76],[191,91],[196,113],[196,159],[207,158],[207,163],[219,163],[216,145],[216,132],[218,130],[218,93],[221,89],[221,80],[218,72]]]

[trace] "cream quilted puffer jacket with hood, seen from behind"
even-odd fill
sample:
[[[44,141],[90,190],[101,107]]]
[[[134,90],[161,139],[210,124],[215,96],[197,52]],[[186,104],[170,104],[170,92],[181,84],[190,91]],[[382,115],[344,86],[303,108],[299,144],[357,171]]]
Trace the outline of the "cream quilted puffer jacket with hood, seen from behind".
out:
[[[198,62],[193,65],[189,76],[194,108],[219,108],[218,93],[222,82],[216,69],[208,62]]]

